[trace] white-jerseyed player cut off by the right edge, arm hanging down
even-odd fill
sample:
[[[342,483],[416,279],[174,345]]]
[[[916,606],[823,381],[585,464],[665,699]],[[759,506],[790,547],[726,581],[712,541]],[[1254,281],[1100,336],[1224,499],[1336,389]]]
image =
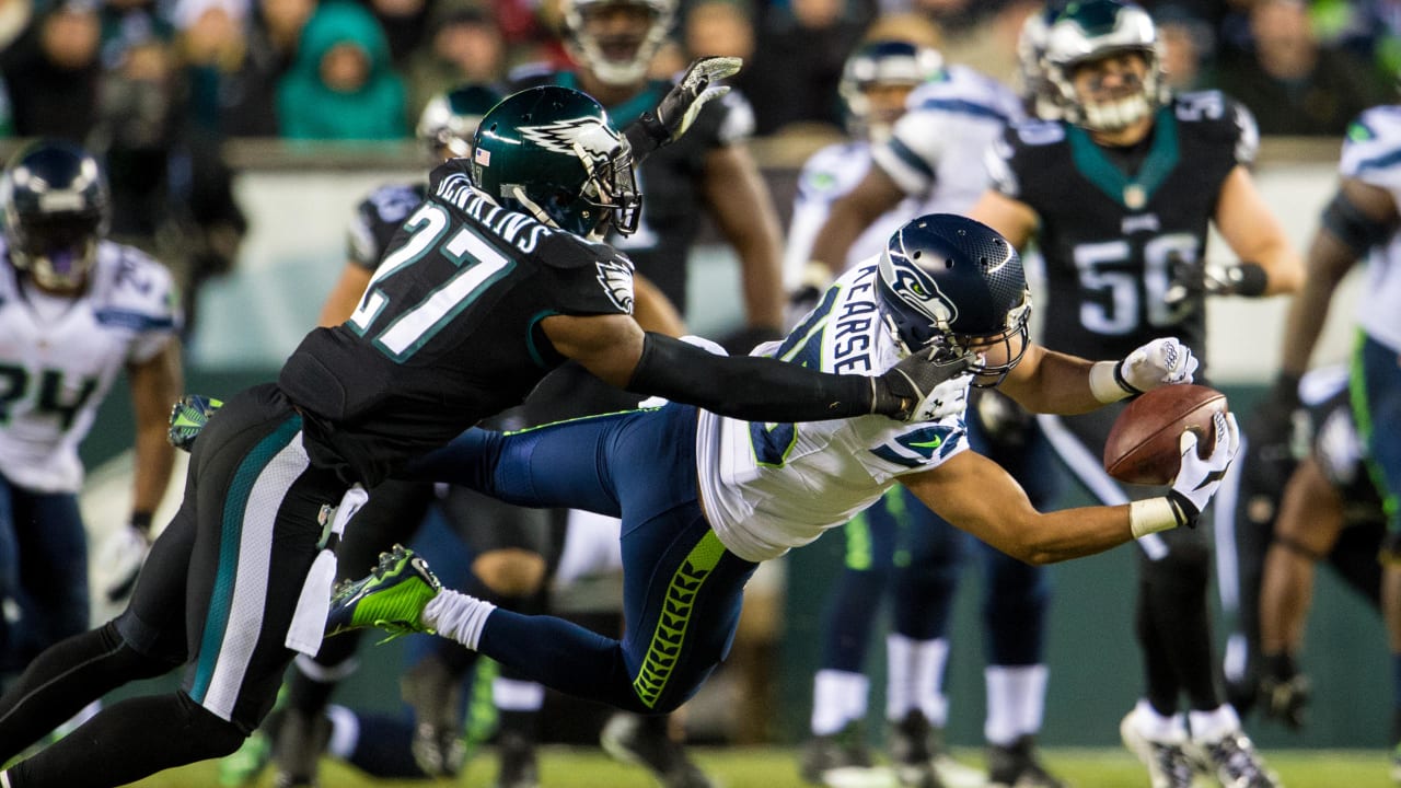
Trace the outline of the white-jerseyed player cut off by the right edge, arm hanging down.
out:
[[[1265,415],[1283,423],[1297,405],[1297,380],[1309,367],[1328,320],[1334,290],[1367,258],[1358,301],[1352,401],[1367,450],[1367,470],[1387,513],[1381,559],[1381,611],[1393,660],[1393,778],[1401,782],[1401,108],[1374,107],[1348,128],[1338,172],[1342,182],[1323,212],[1309,247],[1303,289],[1289,306],[1281,345],[1281,380]]]

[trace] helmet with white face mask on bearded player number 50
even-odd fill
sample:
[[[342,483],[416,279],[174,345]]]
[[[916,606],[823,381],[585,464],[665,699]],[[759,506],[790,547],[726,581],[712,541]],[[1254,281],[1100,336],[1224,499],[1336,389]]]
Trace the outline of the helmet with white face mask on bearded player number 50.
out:
[[[1136,52],[1147,63],[1147,76],[1139,90],[1105,102],[1080,97],[1075,90],[1075,70],[1119,52]],[[1066,6],[1047,32],[1045,69],[1065,119],[1091,130],[1128,128],[1168,100],[1153,18],[1124,0],[1080,0]]]

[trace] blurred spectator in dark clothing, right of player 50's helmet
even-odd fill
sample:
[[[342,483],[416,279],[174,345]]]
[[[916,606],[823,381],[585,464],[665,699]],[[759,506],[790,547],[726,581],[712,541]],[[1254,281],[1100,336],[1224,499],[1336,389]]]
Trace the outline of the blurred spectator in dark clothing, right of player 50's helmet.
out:
[[[1219,83],[1255,114],[1262,135],[1342,135],[1383,102],[1365,63],[1320,45],[1303,0],[1258,0],[1250,31],[1252,50],[1223,63]]]

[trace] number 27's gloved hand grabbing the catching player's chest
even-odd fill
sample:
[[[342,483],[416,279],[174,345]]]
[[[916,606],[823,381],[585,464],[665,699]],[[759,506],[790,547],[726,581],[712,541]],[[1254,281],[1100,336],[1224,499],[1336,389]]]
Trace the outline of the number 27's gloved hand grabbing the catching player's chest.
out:
[[[972,353],[953,356],[937,348],[911,353],[874,379],[871,412],[904,422],[939,421],[961,412],[972,383],[968,373],[976,363]]]

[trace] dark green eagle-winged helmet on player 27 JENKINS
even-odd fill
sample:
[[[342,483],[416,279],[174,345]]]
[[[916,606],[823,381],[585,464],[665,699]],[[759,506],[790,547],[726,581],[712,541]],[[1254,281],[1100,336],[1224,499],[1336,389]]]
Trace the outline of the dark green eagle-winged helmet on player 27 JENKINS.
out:
[[[482,118],[472,147],[472,181],[503,208],[586,237],[637,229],[632,149],[584,93],[511,94]]]

